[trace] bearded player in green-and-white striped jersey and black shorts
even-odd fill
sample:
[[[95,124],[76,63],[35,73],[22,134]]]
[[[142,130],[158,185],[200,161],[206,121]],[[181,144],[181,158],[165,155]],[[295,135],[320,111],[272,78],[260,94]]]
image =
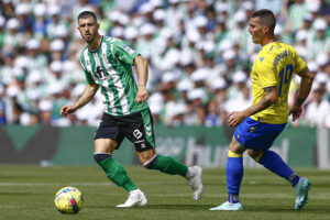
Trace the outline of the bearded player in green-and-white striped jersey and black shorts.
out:
[[[88,84],[81,97],[74,105],[64,106],[61,114],[66,117],[74,113],[101,89],[106,108],[95,135],[94,158],[109,179],[130,194],[128,200],[117,207],[142,207],[147,204],[144,193],[112,157],[113,151],[119,148],[124,138],[134,143],[138,157],[145,168],[187,178],[193,189],[193,199],[198,200],[202,194],[201,167],[187,167],[170,156],[155,152],[153,120],[146,102],[147,62],[123,41],[100,35],[94,12],[84,11],[78,15],[78,30],[87,43],[80,63]],[[138,86],[132,65],[136,67]]]

